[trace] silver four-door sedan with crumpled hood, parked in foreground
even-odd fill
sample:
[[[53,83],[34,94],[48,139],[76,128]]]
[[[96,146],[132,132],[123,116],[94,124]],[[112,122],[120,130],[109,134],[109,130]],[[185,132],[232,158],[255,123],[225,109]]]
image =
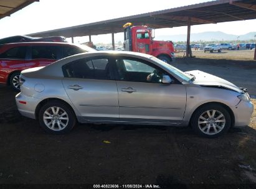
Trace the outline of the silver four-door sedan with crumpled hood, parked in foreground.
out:
[[[47,132],[69,132],[76,122],[191,125],[217,137],[250,122],[249,94],[199,70],[183,72],[134,52],[90,52],[21,72],[19,112]]]

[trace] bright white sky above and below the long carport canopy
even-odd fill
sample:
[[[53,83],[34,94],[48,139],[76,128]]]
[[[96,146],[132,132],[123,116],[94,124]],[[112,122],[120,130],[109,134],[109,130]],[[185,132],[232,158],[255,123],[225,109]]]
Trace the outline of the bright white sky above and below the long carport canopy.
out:
[[[207,2],[206,0],[40,0],[0,19],[0,39],[12,35],[25,35],[45,30],[59,29],[73,25],[115,19],[145,12],[160,11],[174,7]],[[125,23],[124,23],[125,24]],[[192,25],[191,33],[221,31],[227,34],[243,35],[256,31],[256,19],[250,21],[224,22],[219,24]],[[121,27],[121,25],[120,25]],[[187,27],[157,29],[156,35],[186,34]],[[123,34],[115,34],[115,40]],[[75,42],[86,42],[88,37],[76,37]],[[93,42],[111,42],[111,35],[93,35]]]

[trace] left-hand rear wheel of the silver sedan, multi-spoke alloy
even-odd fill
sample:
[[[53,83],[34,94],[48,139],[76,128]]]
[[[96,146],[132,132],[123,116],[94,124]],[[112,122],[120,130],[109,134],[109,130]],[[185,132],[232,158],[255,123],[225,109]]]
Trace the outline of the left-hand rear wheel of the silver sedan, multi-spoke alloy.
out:
[[[75,126],[75,114],[72,109],[60,101],[50,101],[39,111],[40,126],[52,134],[64,134]]]

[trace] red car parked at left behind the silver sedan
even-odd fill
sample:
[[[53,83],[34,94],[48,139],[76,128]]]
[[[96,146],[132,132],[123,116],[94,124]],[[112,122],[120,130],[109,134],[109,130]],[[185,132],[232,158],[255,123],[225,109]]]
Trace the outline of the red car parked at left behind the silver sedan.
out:
[[[0,83],[19,91],[22,70],[44,67],[61,58],[77,53],[95,51],[85,45],[59,42],[22,42],[0,45]]]

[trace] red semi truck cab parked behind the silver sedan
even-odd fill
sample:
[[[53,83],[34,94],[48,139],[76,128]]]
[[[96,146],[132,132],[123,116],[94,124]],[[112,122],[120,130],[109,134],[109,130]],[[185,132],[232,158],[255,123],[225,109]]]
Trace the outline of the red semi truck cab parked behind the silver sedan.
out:
[[[153,29],[146,25],[123,25],[125,39],[123,48],[126,51],[141,52],[171,63],[175,60],[174,44],[171,41],[154,40]]]

